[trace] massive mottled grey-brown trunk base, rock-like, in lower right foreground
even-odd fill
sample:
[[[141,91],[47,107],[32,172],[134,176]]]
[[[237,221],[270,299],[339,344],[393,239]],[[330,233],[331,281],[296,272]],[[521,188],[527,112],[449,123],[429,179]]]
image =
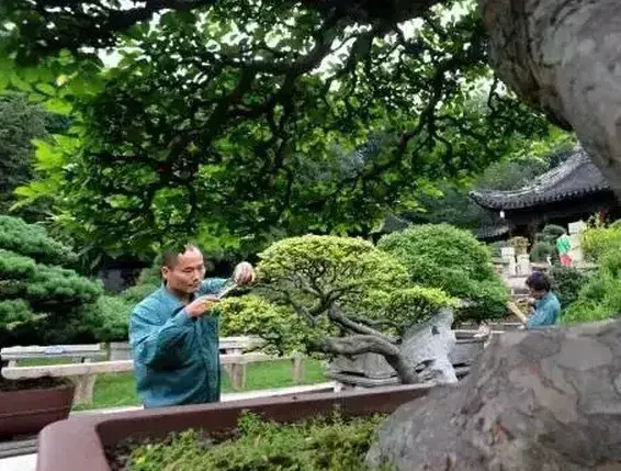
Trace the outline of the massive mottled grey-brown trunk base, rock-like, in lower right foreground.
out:
[[[371,466],[621,470],[621,322],[496,337],[468,378],[393,414]]]

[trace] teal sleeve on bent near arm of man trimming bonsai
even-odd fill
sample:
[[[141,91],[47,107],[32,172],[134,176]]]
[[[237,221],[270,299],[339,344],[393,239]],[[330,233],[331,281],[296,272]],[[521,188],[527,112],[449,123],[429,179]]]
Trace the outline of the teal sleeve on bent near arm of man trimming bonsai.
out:
[[[168,366],[170,348],[183,339],[191,318],[185,309],[166,321],[159,322],[158,313],[147,306],[138,305],[129,321],[129,343],[134,360],[148,367]]]

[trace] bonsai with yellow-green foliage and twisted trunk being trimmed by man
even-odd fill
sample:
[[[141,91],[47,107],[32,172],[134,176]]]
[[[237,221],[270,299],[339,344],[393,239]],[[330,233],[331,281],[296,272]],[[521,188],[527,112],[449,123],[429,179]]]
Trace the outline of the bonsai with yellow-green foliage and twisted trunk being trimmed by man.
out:
[[[221,305],[224,332],[260,335],[279,350],[379,354],[403,383],[418,380],[408,327],[455,304],[411,284],[395,258],[358,238],[292,237],[259,257],[257,292]]]

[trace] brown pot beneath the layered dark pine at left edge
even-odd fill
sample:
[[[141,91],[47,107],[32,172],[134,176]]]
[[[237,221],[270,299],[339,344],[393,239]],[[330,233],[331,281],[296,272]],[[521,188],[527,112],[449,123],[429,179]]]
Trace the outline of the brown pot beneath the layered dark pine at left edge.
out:
[[[0,439],[35,435],[46,425],[69,416],[76,389],[69,380],[15,382],[19,389],[0,390]]]

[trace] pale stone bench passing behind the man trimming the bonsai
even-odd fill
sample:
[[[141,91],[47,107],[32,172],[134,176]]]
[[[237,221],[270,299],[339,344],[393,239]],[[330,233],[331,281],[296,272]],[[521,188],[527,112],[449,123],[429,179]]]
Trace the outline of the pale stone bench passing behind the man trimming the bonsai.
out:
[[[284,357],[292,361],[293,381],[298,384],[303,378],[303,357],[293,355]],[[273,361],[280,357],[272,357],[266,354],[241,354],[241,355],[221,355],[221,365],[232,368],[232,384],[235,389],[242,389],[246,385],[246,365]],[[99,361],[72,365],[47,365],[38,367],[7,367],[2,369],[2,377],[8,380],[34,379],[34,378],[75,378],[76,394],[75,404],[91,404],[93,390],[98,374],[118,373],[134,370],[133,360]]]

